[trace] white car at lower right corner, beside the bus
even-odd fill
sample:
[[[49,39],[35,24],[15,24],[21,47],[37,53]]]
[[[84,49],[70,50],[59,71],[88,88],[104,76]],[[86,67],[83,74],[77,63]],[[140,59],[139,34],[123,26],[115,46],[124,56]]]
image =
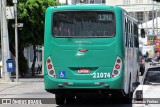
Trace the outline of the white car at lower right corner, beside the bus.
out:
[[[138,86],[139,85],[139,86]],[[150,66],[133,93],[132,107],[160,107],[160,66]]]

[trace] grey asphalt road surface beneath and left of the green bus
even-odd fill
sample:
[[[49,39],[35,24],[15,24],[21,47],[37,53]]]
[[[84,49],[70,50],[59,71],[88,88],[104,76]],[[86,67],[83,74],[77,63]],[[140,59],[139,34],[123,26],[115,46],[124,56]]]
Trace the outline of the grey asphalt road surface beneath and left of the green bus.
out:
[[[149,66],[149,63],[146,63],[146,68]],[[142,76],[140,76],[140,80]],[[52,104],[1,104],[0,107],[132,107],[132,104],[115,104],[113,102],[102,101],[102,100],[86,100],[82,102],[77,102],[73,105],[56,105],[55,104],[55,95],[48,93],[44,90],[43,78],[36,79],[27,79],[20,80],[22,83],[16,87],[11,87],[5,90],[0,91],[0,100],[6,98],[13,99],[16,98],[36,98],[50,101]],[[23,100],[23,99],[22,99]],[[28,100],[28,99],[27,99]]]

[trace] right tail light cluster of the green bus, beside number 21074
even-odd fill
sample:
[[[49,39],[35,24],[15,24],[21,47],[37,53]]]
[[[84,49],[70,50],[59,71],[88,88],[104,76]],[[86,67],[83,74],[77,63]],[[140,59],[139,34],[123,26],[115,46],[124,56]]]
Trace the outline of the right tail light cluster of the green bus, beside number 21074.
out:
[[[120,74],[121,67],[122,67],[122,60],[120,57],[117,57],[112,71],[112,78],[115,78]]]

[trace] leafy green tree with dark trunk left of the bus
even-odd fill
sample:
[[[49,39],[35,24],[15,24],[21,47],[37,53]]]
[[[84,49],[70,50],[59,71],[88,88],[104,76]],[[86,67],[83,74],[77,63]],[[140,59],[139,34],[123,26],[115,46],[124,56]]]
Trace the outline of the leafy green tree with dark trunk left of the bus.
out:
[[[10,0],[8,3],[13,5]],[[18,57],[19,71],[21,76],[27,72],[27,61],[24,57],[24,48],[33,46],[34,58],[32,63],[32,76],[35,75],[36,45],[44,43],[44,20],[45,10],[49,6],[59,5],[56,0],[19,0],[18,1],[18,22],[24,23],[22,30],[18,30]],[[15,35],[12,24],[14,20],[9,20],[10,50],[15,55]],[[25,64],[24,64],[25,62]]]

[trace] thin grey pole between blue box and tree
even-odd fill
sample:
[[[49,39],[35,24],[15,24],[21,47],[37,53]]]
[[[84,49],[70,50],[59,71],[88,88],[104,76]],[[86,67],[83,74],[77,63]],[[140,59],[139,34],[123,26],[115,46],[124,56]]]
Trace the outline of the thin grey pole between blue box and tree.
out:
[[[18,82],[18,23],[17,23],[17,0],[13,0],[14,3],[14,18],[15,18],[15,49],[16,49],[16,82]]]

